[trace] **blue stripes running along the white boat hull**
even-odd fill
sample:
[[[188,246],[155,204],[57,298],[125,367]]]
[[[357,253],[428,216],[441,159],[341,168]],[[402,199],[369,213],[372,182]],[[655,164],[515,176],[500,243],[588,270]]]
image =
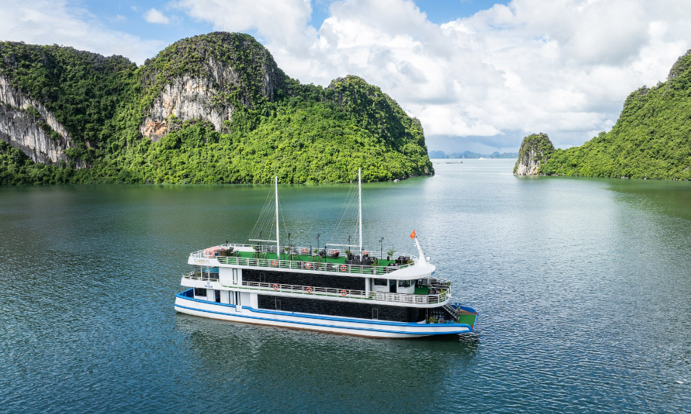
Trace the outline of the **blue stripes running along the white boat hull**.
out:
[[[180,295],[178,295],[180,296]],[[202,302],[202,303],[207,303],[207,304],[213,304],[214,306],[218,305],[223,305],[223,306],[230,306],[232,308],[235,308],[235,305],[229,305],[229,304],[219,304],[217,302],[209,302],[209,301],[204,301],[200,299],[192,299],[189,297],[184,297],[180,296],[181,299],[187,299],[187,300],[192,300],[195,302]],[[466,324],[453,324],[455,326],[458,326],[459,328],[464,328],[462,331],[444,331],[444,332],[429,332],[429,331],[393,331],[390,329],[377,329],[377,328],[364,328],[364,327],[357,327],[357,326],[342,326],[342,325],[333,325],[333,324],[320,324],[316,322],[301,322],[301,321],[290,321],[290,320],[285,320],[285,319],[276,319],[276,318],[271,318],[271,317],[259,317],[259,316],[252,316],[252,315],[243,315],[240,313],[226,313],[226,312],[220,312],[220,311],[208,311],[206,309],[200,309],[200,308],[192,308],[190,306],[184,306],[180,304],[175,305],[176,308],[183,308],[183,309],[189,309],[191,311],[197,311],[197,312],[206,312],[206,313],[215,313],[218,315],[227,315],[230,317],[242,317],[242,318],[247,318],[247,319],[258,319],[258,320],[264,320],[268,322],[281,322],[285,324],[295,324],[295,325],[303,325],[303,326],[320,326],[323,328],[339,328],[339,329],[350,329],[354,331],[369,331],[369,332],[383,332],[383,333],[395,333],[395,334],[403,334],[403,335],[453,335],[453,334],[458,334],[458,333],[469,333],[473,331],[473,328]],[[337,321],[337,322],[349,322],[349,323],[358,323],[358,324],[374,324],[374,325],[384,325],[384,326],[410,326],[413,328],[418,328],[422,326],[429,326],[430,324],[405,324],[401,322],[381,322],[381,321],[361,321],[358,319],[345,319],[345,318],[336,318],[336,317],[327,317],[327,316],[322,316],[322,315],[305,315],[305,314],[299,314],[295,315],[294,313],[287,313],[287,312],[275,312],[275,311],[263,311],[263,310],[257,310],[254,308],[251,308],[249,306],[244,306],[243,308],[247,308],[249,311],[252,311],[253,313],[273,313],[276,315],[286,315],[286,316],[291,316],[291,317],[304,317],[304,318],[309,318],[309,319],[327,319],[327,320],[332,320],[332,321]],[[241,321],[240,321],[241,322]],[[437,324],[438,326],[444,326],[444,328],[448,328],[449,324]]]

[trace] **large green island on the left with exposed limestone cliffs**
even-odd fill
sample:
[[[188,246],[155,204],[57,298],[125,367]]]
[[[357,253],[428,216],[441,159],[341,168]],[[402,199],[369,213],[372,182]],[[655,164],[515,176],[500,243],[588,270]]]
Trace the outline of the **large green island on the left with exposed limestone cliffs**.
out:
[[[433,175],[422,124],[357,76],[285,75],[249,34],[142,66],[0,41],[0,185],[347,182]]]

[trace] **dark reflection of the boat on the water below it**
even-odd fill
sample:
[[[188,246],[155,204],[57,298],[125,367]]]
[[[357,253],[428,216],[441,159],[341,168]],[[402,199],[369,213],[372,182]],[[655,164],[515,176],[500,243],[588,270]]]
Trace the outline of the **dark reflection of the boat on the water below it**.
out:
[[[471,365],[479,343],[475,334],[390,341],[182,313],[176,313],[176,330],[189,349],[185,364],[194,367],[200,381],[214,393],[245,387],[247,393],[232,391],[245,400],[238,407],[260,411],[281,411],[282,400],[292,400],[292,406],[304,402],[306,411],[327,406],[382,411],[390,393],[399,406],[422,410],[430,397],[451,386],[454,371]],[[276,398],[258,406],[258,395]]]

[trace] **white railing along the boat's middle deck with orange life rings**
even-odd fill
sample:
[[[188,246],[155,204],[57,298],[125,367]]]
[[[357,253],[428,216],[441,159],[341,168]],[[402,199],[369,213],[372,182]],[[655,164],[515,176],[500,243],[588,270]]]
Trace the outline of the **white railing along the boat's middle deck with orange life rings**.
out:
[[[244,281],[240,286],[233,287],[246,288],[249,290],[263,290],[269,293],[299,293],[310,296],[347,297],[350,299],[368,299],[380,302],[398,302],[405,304],[439,304],[445,302],[451,295],[450,289],[442,290],[436,295],[414,295],[411,293],[366,292],[365,290],[354,289],[320,288],[316,286]]]

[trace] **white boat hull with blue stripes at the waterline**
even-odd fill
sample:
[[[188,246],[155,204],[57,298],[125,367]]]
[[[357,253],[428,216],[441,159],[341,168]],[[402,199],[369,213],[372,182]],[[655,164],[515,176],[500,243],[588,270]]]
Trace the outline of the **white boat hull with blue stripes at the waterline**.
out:
[[[406,338],[428,335],[452,335],[473,331],[466,324],[426,324],[390,322],[372,319],[334,317],[283,311],[269,311],[250,306],[236,306],[176,296],[175,310],[188,315],[223,319],[232,322],[281,326],[284,328],[305,329],[342,333],[366,337]]]

